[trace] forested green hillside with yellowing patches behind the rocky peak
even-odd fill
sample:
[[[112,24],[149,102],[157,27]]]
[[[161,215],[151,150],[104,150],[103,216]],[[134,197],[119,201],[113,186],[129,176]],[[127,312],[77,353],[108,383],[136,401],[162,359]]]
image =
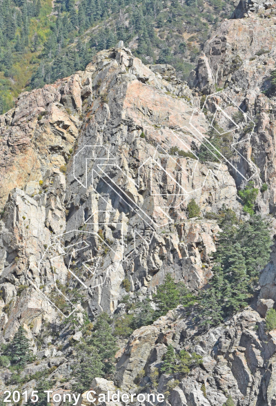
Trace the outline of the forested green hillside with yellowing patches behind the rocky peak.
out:
[[[22,91],[83,70],[120,39],[145,64],[172,64],[185,79],[232,8],[223,0],[3,0],[0,113]]]

